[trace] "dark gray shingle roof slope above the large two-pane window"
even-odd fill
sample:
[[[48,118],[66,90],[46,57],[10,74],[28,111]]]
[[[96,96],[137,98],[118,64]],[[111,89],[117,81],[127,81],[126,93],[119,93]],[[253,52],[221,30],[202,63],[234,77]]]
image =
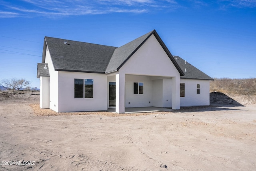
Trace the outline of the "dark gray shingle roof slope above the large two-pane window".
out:
[[[116,47],[45,37],[56,71],[105,73]],[[64,44],[67,42],[67,44]]]

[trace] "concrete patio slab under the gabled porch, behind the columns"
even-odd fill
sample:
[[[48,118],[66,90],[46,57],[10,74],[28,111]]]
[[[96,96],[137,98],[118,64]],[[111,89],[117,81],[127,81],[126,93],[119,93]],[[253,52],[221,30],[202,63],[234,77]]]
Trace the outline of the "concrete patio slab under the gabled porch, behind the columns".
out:
[[[161,112],[161,111],[174,111],[175,109],[163,107],[128,107],[125,108],[124,113],[145,113],[145,112]],[[109,112],[116,112],[116,108],[109,108]]]

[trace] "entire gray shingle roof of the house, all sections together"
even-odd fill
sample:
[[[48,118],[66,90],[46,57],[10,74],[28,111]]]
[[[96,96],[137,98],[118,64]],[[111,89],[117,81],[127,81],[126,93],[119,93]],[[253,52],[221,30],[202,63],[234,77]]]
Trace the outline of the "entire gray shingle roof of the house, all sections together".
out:
[[[119,48],[45,37],[42,65],[39,64],[38,68],[40,69],[42,66],[44,67],[44,56],[46,54],[47,44],[54,70],[56,71],[91,72],[101,74],[114,72],[119,70],[152,34],[154,34],[178,72],[180,72],[180,78],[213,80],[188,62],[185,64],[185,61],[179,56],[172,56],[156,30],[148,32]],[[66,44],[64,44],[64,42],[66,42]],[[177,58],[177,60],[174,57]],[[187,72],[185,72],[185,68]],[[49,71],[48,73],[42,73],[41,69],[38,71],[38,76],[49,76]]]

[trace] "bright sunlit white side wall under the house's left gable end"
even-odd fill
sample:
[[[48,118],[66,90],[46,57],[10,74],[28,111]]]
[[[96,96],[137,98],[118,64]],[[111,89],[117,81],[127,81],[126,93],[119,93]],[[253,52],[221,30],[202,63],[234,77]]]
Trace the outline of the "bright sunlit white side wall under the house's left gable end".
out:
[[[52,58],[50,56],[50,53],[48,51],[48,47],[46,47],[46,55],[45,55],[45,63],[48,64],[49,73],[50,73],[50,81],[49,81],[49,87],[50,87],[50,109],[57,111],[58,108],[58,71],[54,70],[54,66],[52,64]],[[54,106],[55,105],[55,106]]]

